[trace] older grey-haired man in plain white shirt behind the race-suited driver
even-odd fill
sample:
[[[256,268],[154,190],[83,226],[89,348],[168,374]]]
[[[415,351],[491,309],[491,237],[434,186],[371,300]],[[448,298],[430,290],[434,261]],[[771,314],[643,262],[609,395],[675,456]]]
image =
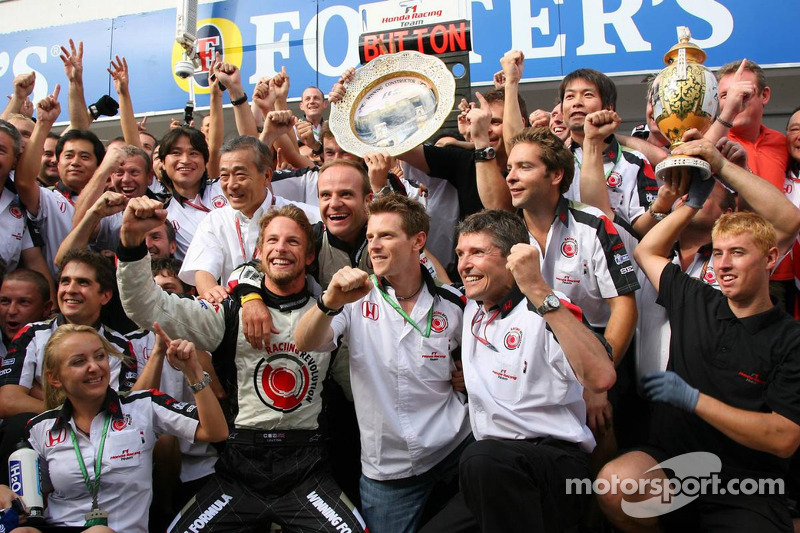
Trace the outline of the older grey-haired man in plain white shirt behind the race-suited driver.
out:
[[[270,112],[265,128],[274,128],[278,136],[291,127],[290,119],[291,112]],[[236,137],[220,153],[220,185],[228,205],[208,213],[197,226],[180,273],[201,298],[216,303],[228,296],[218,280],[227,280],[234,268],[256,258],[258,221],[267,211],[294,203],[312,224],[320,220],[315,207],[272,194],[272,155],[258,139]]]

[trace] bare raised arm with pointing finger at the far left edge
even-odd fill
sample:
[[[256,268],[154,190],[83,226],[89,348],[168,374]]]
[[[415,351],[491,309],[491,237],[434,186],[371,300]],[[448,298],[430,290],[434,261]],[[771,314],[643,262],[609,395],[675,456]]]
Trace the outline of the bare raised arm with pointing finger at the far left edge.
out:
[[[61,86],[56,85],[53,94],[39,102],[37,106],[36,126],[28,141],[28,145],[22,152],[17,169],[14,173],[14,185],[17,187],[17,194],[28,212],[37,216],[39,214],[39,182],[36,175],[42,164],[42,153],[44,152],[44,141],[53,124],[61,114],[61,104],[58,103],[58,95]]]

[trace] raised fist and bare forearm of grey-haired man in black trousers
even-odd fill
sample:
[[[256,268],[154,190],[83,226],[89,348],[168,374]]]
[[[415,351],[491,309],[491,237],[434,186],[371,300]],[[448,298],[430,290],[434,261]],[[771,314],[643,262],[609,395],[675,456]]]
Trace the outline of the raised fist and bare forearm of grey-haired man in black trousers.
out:
[[[515,244],[508,256],[507,268],[514,275],[522,293],[539,307],[553,289],[542,278],[539,251],[530,244]],[[614,364],[605,346],[588,327],[561,306],[545,313],[544,319],[558,339],[575,377],[591,392],[605,392],[616,380]]]

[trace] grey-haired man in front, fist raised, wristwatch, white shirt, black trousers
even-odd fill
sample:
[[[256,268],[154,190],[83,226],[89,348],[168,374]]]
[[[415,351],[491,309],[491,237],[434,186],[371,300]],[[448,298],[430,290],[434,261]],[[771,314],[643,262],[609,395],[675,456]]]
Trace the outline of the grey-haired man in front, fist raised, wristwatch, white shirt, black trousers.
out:
[[[469,298],[462,357],[477,442],[461,455],[461,492],[424,532],[561,531],[580,520],[595,446],[583,391],[615,380],[610,347],[545,282],[522,220],[482,211],[458,226]]]

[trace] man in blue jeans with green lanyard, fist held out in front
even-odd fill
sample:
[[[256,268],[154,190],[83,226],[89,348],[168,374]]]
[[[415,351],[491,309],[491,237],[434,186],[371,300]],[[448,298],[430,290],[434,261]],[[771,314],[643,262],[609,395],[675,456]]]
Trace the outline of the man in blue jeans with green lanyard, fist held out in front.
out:
[[[342,337],[350,346],[361,508],[373,533],[416,531],[433,486],[455,479],[473,441],[465,397],[451,383],[463,296],[420,265],[429,227],[425,208],[408,197],[370,203],[375,274],[339,270],[295,330],[299,350],[333,349]]]

